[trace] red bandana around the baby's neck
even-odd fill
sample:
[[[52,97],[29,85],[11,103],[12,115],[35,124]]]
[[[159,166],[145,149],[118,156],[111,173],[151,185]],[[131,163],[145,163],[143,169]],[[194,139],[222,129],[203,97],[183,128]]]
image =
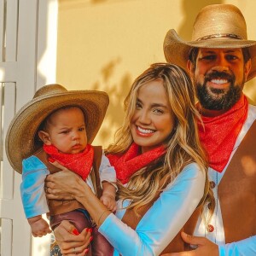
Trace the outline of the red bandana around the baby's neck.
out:
[[[94,150],[89,144],[87,144],[82,153],[78,154],[60,153],[59,150],[52,145],[44,145],[44,151],[49,154],[50,157],[57,160],[62,166],[79,174],[84,180],[88,177],[94,155]]]

